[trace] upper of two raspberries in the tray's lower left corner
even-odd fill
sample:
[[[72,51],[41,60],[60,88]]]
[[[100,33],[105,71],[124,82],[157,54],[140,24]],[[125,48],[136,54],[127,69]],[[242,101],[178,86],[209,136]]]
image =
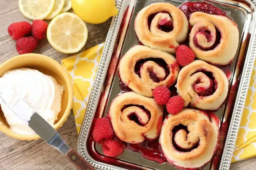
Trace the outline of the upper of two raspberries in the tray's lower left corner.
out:
[[[109,120],[101,117],[95,121],[92,136],[96,142],[112,139],[114,135],[114,130]]]

